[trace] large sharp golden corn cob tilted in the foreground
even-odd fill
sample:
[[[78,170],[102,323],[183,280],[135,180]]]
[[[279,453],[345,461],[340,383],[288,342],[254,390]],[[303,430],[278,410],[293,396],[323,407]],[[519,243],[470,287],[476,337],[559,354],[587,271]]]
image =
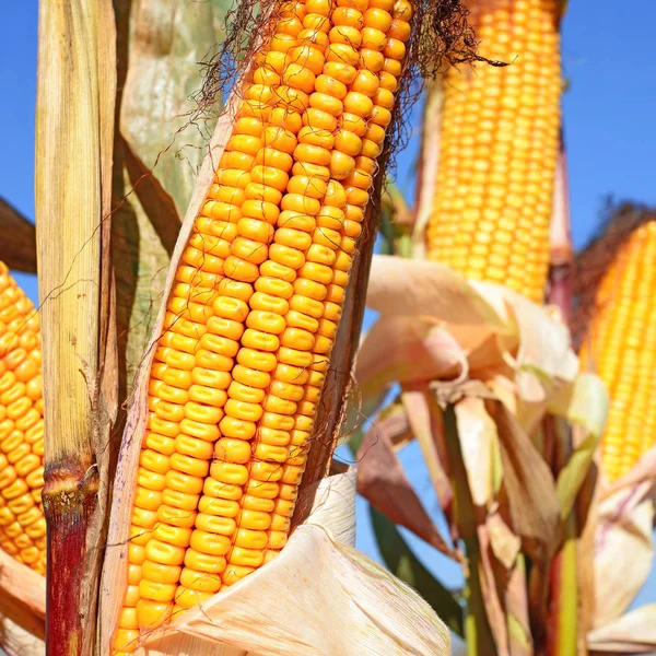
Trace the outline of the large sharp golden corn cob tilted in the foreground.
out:
[[[286,542],[411,15],[288,1],[255,58],[151,370],[119,653]]]

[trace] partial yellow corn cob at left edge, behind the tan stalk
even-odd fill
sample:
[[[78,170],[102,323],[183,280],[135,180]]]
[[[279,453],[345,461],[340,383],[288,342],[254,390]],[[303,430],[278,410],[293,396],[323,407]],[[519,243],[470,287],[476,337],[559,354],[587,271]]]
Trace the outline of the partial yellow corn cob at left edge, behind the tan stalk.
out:
[[[0,547],[45,574],[40,364],[38,314],[0,262]]]

